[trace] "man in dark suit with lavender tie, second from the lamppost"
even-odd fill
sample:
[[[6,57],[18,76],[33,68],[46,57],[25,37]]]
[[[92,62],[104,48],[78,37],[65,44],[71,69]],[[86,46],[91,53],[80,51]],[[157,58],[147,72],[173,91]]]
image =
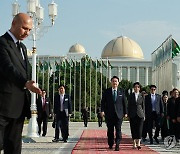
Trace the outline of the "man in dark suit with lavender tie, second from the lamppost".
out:
[[[56,118],[55,139],[59,141],[59,129],[64,142],[67,142],[69,136],[69,116],[72,113],[71,98],[65,94],[65,86],[59,86],[59,94],[54,98],[54,116]]]

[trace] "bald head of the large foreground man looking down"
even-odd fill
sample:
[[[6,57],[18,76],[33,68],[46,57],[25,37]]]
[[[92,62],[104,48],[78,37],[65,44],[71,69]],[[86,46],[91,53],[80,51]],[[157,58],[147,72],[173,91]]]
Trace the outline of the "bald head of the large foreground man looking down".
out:
[[[24,40],[32,29],[32,18],[25,13],[17,14],[11,25],[11,33],[17,40]]]

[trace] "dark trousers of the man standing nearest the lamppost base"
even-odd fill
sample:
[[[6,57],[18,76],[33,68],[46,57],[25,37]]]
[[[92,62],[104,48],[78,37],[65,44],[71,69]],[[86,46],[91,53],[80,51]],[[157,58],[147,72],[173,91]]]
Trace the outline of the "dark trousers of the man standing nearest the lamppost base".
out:
[[[41,135],[41,124],[43,123],[43,136],[46,135],[47,133],[47,124],[48,124],[48,116],[46,114],[46,111],[43,111],[41,114],[38,114],[38,118],[37,118],[37,122],[38,122],[38,134]]]

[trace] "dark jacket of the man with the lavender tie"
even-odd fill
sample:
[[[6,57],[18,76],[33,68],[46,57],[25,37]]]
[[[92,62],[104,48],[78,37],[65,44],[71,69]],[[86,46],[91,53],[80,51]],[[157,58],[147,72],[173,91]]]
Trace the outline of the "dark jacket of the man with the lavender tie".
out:
[[[57,114],[60,112],[60,95],[56,95],[54,97],[54,114]],[[68,114],[72,113],[72,104],[71,104],[71,98],[68,94],[64,95],[64,100],[63,100],[63,109],[66,112],[66,116],[68,116]],[[68,112],[68,113],[67,113]]]

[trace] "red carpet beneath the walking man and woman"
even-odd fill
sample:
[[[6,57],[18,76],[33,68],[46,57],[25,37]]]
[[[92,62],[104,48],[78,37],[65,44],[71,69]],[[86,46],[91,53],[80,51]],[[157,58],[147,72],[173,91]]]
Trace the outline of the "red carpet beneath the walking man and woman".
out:
[[[123,135],[120,144],[120,151],[114,151],[108,148],[106,130],[84,130],[80,140],[74,147],[72,154],[157,154],[158,152],[142,145],[141,150],[132,149],[132,139],[127,135]]]

